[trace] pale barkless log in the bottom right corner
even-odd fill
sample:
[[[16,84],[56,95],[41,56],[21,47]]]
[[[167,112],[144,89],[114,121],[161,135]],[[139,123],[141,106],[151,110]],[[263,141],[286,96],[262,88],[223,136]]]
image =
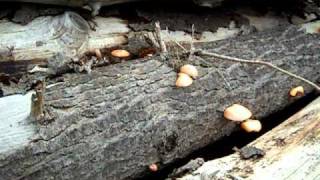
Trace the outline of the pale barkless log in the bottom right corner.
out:
[[[247,147],[264,157],[244,160],[242,152],[204,163],[181,180],[319,179],[320,98]]]

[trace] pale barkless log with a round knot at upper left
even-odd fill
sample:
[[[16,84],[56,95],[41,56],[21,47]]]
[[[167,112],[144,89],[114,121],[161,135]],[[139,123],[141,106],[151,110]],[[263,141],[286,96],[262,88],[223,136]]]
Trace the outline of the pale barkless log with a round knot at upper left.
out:
[[[0,23],[0,63],[7,60],[50,59],[57,54],[74,57],[96,48],[127,42],[125,20],[95,17],[96,30],[74,12],[39,17],[26,26],[7,20]]]

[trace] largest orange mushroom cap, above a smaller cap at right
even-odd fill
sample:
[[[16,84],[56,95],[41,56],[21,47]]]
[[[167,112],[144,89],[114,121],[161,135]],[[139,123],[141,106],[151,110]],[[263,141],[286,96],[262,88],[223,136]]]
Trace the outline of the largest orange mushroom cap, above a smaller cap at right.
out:
[[[249,119],[252,113],[248,108],[240,104],[233,104],[224,110],[223,115],[228,120],[241,122]]]

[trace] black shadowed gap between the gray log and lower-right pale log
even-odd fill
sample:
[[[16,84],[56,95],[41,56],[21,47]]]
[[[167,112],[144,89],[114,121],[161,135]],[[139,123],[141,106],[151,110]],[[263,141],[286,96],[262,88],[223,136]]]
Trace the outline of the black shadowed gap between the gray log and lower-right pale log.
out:
[[[262,131],[259,133],[246,133],[242,130],[235,131],[231,133],[229,136],[224,137],[218,140],[217,142],[209,144],[208,146],[191,153],[183,159],[177,160],[176,162],[168,165],[167,167],[159,170],[158,172],[149,172],[148,175],[136,178],[136,180],[164,180],[168,178],[168,176],[173,172],[174,169],[182,167],[192,159],[200,157],[203,158],[205,161],[211,161],[217,158],[230,155],[234,153],[234,147],[242,148],[243,146],[254,141],[258,137],[262,136],[264,133],[270,131],[272,128],[278,126],[280,123],[282,123],[283,121],[285,121],[286,119],[303,109],[306,105],[311,103],[317,97],[319,97],[318,93],[309,93],[304,97],[299,98],[294,103],[290,104],[284,109],[281,109],[275,113],[272,113],[262,118],[261,121],[263,124],[263,128]]]

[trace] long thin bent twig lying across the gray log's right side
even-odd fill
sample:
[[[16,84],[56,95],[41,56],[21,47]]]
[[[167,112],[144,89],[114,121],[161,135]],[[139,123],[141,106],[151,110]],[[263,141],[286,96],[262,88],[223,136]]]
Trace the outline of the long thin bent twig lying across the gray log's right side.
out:
[[[219,59],[224,59],[224,60],[228,60],[228,61],[233,61],[233,62],[240,62],[240,63],[247,63],[247,64],[260,64],[260,65],[265,65],[265,66],[268,66],[270,68],[273,68],[277,71],[280,71],[284,74],[287,74],[288,76],[290,77],[293,77],[293,78],[296,78],[296,79],[299,79],[307,84],[309,84],[310,86],[314,87],[317,91],[320,92],[320,86],[318,86],[317,84],[301,77],[301,76],[298,76],[296,74],[293,74],[289,71],[286,71],[282,68],[279,68],[269,62],[265,62],[265,61],[259,61],[259,60],[245,60],[245,59],[240,59],[240,58],[236,58],[236,57],[230,57],[230,56],[225,56],[225,55],[220,55],[220,54],[217,54],[217,53],[213,53],[213,52],[206,52],[206,51],[203,51],[203,50],[198,50],[196,51],[196,54],[197,55],[202,55],[202,56],[210,56],[210,57],[215,57],[215,58],[219,58]]]

